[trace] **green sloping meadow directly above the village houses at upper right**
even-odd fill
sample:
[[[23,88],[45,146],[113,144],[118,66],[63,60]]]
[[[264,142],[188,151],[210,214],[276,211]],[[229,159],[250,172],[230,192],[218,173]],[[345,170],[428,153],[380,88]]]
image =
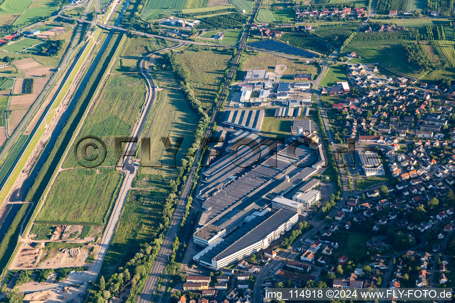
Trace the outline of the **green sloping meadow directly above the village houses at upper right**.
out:
[[[381,43],[380,41],[351,42],[344,48],[344,52],[355,51],[357,55],[362,57],[361,59],[356,58],[354,62],[362,64],[381,62],[381,65],[396,73],[419,79],[425,77],[428,72],[415,72],[418,68],[416,69],[413,63],[408,63],[407,60],[403,60],[403,57],[396,55],[403,54],[404,48],[401,43],[395,43],[387,44],[387,42]]]

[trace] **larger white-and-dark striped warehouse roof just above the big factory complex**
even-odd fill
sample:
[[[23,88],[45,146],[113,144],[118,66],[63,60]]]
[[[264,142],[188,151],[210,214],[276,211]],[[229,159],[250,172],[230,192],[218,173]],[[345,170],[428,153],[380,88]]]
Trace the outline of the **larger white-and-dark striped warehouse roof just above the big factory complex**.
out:
[[[260,131],[264,121],[265,111],[254,109],[227,110],[223,114],[222,121],[227,124],[241,126],[246,129]]]

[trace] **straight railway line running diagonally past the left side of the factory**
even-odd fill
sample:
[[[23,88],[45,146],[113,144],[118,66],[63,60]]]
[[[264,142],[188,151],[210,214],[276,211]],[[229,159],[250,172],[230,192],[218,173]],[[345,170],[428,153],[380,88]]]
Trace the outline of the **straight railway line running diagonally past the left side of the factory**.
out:
[[[261,0],[256,0],[256,5],[254,6],[253,13],[251,14],[251,18],[250,18],[245,30],[243,31],[242,37],[240,38],[240,44],[238,46],[239,51],[237,52],[237,54],[234,57],[233,65],[231,66],[231,69],[229,70],[229,73],[227,75],[227,80],[223,85],[223,89],[220,94],[220,98],[219,98],[217,105],[215,106],[214,112],[212,114],[212,119],[210,120],[210,123],[208,124],[207,131],[204,135],[204,138],[202,139],[202,143],[201,143],[199,149],[197,150],[196,158],[189,171],[187,182],[185,183],[185,185],[182,189],[182,194],[180,195],[180,198],[176,205],[176,209],[174,210],[174,214],[172,215],[172,219],[169,224],[169,227],[167,228],[167,232],[164,237],[163,243],[161,245],[160,251],[158,252],[157,257],[155,258],[155,262],[153,263],[152,270],[150,271],[150,273],[147,277],[147,280],[145,282],[144,290],[142,292],[141,298],[139,299],[139,303],[152,302],[154,290],[157,287],[158,278],[161,276],[163,269],[165,268],[165,266],[168,262],[168,258],[172,253],[172,243],[174,242],[174,239],[178,232],[178,228],[180,226],[180,222],[182,220],[182,216],[185,211],[185,205],[187,203],[188,196],[189,196],[189,194],[191,194],[191,190],[193,188],[193,180],[194,180],[194,176],[196,174],[197,164],[202,157],[202,152],[203,152],[204,146],[207,144],[207,141],[210,137],[213,125],[215,123],[215,119],[217,117],[217,112],[222,105],[224,95],[228,91],[229,82],[232,79],[234,70],[237,68],[238,60],[239,60],[240,54],[241,54],[240,50],[245,45],[245,42],[248,37],[248,32],[251,28],[251,25],[253,24],[254,16],[256,15],[256,13],[258,11],[260,2],[261,2]],[[157,36],[157,37],[160,37],[160,36]],[[160,38],[162,38],[162,37],[160,37]],[[189,41],[183,41],[183,42],[190,43]],[[159,300],[161,301],[162,299],[163,299],[163,297],[161,297]]]

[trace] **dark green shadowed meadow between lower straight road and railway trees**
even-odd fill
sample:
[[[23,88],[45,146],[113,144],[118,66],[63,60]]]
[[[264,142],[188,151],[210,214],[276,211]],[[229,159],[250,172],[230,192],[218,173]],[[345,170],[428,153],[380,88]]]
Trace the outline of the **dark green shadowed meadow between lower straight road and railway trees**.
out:
[[[162,205],[169,194],[167,181],[150,176],[147,190],[131,190],[123,207],[119,226],[106,253],[101,271],[111,274],[136,253],[139,244],[151,242],[162,221]]]

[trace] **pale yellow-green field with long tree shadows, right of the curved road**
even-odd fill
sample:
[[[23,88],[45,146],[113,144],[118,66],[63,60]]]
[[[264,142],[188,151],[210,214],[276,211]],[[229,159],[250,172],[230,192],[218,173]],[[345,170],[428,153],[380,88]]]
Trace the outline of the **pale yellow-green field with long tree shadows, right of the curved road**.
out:
[[[160,71],[156,72],[158,73]],[[167,180],[175,178],[178,169],[172,166],[178,166],[191,147],[197,123],[197,114],[181,89],[164,89],[159,92],[157,105],[152,109],[142,134],[144,138],[150,138],[150,159],[147,155],[140,155],[142,165],[150,167],[142,167],[141,172],[161,175]],[[179,138],[183,139],[175,157],[164,149],[162,137],[168,137],[171,144],[175,144]]]

